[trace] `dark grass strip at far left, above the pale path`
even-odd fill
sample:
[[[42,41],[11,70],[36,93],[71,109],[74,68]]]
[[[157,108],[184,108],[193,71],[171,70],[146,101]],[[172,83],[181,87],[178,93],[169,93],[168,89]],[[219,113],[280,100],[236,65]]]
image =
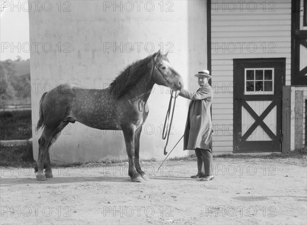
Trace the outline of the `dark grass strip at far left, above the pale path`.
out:
[[[0,112],[0,140],[24,140],[32,137],[31,110]]]

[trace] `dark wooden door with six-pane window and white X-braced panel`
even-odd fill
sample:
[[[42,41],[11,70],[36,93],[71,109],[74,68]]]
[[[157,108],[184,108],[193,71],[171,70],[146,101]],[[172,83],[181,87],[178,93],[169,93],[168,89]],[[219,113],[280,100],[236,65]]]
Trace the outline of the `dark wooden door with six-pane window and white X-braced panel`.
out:
[[[281,151],[286,59],[234,59],[233,151]]]

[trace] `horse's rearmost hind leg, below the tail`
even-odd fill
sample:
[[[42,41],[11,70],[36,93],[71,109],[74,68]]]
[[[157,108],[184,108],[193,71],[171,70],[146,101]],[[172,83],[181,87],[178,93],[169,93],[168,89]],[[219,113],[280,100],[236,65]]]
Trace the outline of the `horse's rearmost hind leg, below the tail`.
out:
[[[38,139],[38,159],[35,170],[37,170],[36,179],[46,180],[46,176],[43,174],[43,162],[45,161],[45,155],[48,154],[48,145],[52,138],[55,128],[45,126],[40,138]]]

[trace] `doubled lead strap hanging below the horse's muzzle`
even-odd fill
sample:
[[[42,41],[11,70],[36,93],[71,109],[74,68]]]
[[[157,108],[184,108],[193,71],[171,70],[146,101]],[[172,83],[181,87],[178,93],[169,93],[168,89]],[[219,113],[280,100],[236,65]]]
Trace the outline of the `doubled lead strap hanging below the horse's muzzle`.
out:
[[[170,130],[171,130],[172,119],[173,119],[173,116],[174,116],[174,111],[175,111],[175,106],[176,106],[176,98],[178,97],[178,95],[179,95],[179,91],[176,91],[175,93],[172,90],[170,91],[170,99],[169,99],[168,109],[167,109],[167,112],[166,112],[164,126],[163,126],[163,133],[162,133],[162,139],[163,140],[166,139],[166,143],[165,143],[165,147],[164,147],[164,155],[167,155],[166,147],[167,147],[167,144],[168,144],[168,139],[169,139],[169,133],[170,133]],[[173,107],[172,107],[170,123],[169,123],[169,126],[168,126],[172,99],[174,99],[174,103],[173,103]]]

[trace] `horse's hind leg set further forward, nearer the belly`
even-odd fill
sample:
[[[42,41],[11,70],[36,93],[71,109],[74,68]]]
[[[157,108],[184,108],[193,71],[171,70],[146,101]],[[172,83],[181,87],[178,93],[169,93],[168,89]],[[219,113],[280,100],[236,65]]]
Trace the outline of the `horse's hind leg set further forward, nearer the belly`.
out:
[[[68,124],[69,124],[69,122],[61,122],[61,124],[56,128],[56,130],[55,130],[54,134],[52,135],[52,138],[51,138],[51,140],[49,142],[49,145],[48,145],[48,148],[47,148],[47,151],[46,151],[46,154],[45,154],[45,159],[44,159],[44,162],[43,162],[46,178],[53,177],[52,169],[51,169],[51,166],[50,166],[50,152],[49,152],[50,148],[54,145],[55,141],[60,136],[61,131]]]

